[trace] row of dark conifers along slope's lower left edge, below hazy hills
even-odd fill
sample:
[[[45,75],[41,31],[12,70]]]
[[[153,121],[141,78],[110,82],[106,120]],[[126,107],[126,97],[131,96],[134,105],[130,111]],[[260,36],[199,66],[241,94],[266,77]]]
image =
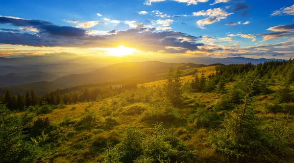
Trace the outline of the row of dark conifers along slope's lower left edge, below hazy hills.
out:
[[[94,87],[84,88],[81,91],[74,91],[71,93],[61,93],[59,89],[55,92],[47,93],[43,96],[37,96],[33,90],[25,94],[18,93],[17,95],[6,91],[5,94],[0,95],[0,101],[6,104],[9,110],[23,111],[29,106],[49,105],[64,105],[73,104],[77,102],[95,101],[103,98],[122,93],[124,90],[137,89],[137,84],[131,82],[123,85],[115,85],[108,87]]]

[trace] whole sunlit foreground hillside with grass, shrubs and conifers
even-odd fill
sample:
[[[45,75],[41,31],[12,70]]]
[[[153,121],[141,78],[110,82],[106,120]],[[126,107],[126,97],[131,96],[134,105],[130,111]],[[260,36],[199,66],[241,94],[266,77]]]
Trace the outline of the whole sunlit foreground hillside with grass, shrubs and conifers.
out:
[[[14,120],[5,126],[26,131],[19,141],[28,144],[22,149],[34,162],[294,161],[294,61],[208,66],[179,77],[185,71],[170,71],[167,80],[139,86],[33,98],[6,93],[0,100],[7,108],[25,112],[11,115]],[[23,108],[26,103],[29,107]],[[5,107],[4,112],[11,114]]]

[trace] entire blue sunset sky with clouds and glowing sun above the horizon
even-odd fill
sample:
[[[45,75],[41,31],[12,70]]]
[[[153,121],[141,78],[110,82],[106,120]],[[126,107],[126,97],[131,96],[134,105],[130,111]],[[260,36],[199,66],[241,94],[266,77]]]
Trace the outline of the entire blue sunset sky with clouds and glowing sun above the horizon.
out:
[[[0,57],[294,56],[292,0],[0,0]]]

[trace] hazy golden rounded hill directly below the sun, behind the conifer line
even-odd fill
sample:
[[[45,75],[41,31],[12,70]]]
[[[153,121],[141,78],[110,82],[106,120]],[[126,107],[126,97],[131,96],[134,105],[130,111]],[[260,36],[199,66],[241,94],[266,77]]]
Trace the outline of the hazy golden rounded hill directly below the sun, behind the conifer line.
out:
[[[10,90],[12,93],[25,93],[27,90],[33,90],[38,95],[43,95],[51,91],[58,89],[75,87],[79,85],[99,84],[105,82],[115,82],[116,84],[122,84],[129,81],[135,81],[136,83],[146,83],[159,79],[164,79],[170,67],[181,66],[185,73],[194,74],[196,68],[203,67],[205,65],[196,64],[175,64],[175,63],[162,63],[158,61],[147,62],[132,62],[132,63],[120,63],[110,65],[98,70],[94,70],[88,73],[72,74],[60,77],[50,82],[35,82],[24,85],[15,85],[13,87],[0,88],[0,93],[4,93],[5,90]]]

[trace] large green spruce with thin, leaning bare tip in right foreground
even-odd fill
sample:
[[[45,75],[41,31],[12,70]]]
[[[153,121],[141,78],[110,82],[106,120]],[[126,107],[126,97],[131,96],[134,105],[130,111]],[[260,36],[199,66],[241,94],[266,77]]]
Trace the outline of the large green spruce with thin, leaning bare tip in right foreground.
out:
[[[261,145],[261,129],[257,127],[259,118],[254,115],[253,108],[249,105],[249,97],[254,88],[254,82],[248,87],[243,104],[226,115],[223,128],[214,138],[214,148],[230,157],[230,160],[254,160]]]

